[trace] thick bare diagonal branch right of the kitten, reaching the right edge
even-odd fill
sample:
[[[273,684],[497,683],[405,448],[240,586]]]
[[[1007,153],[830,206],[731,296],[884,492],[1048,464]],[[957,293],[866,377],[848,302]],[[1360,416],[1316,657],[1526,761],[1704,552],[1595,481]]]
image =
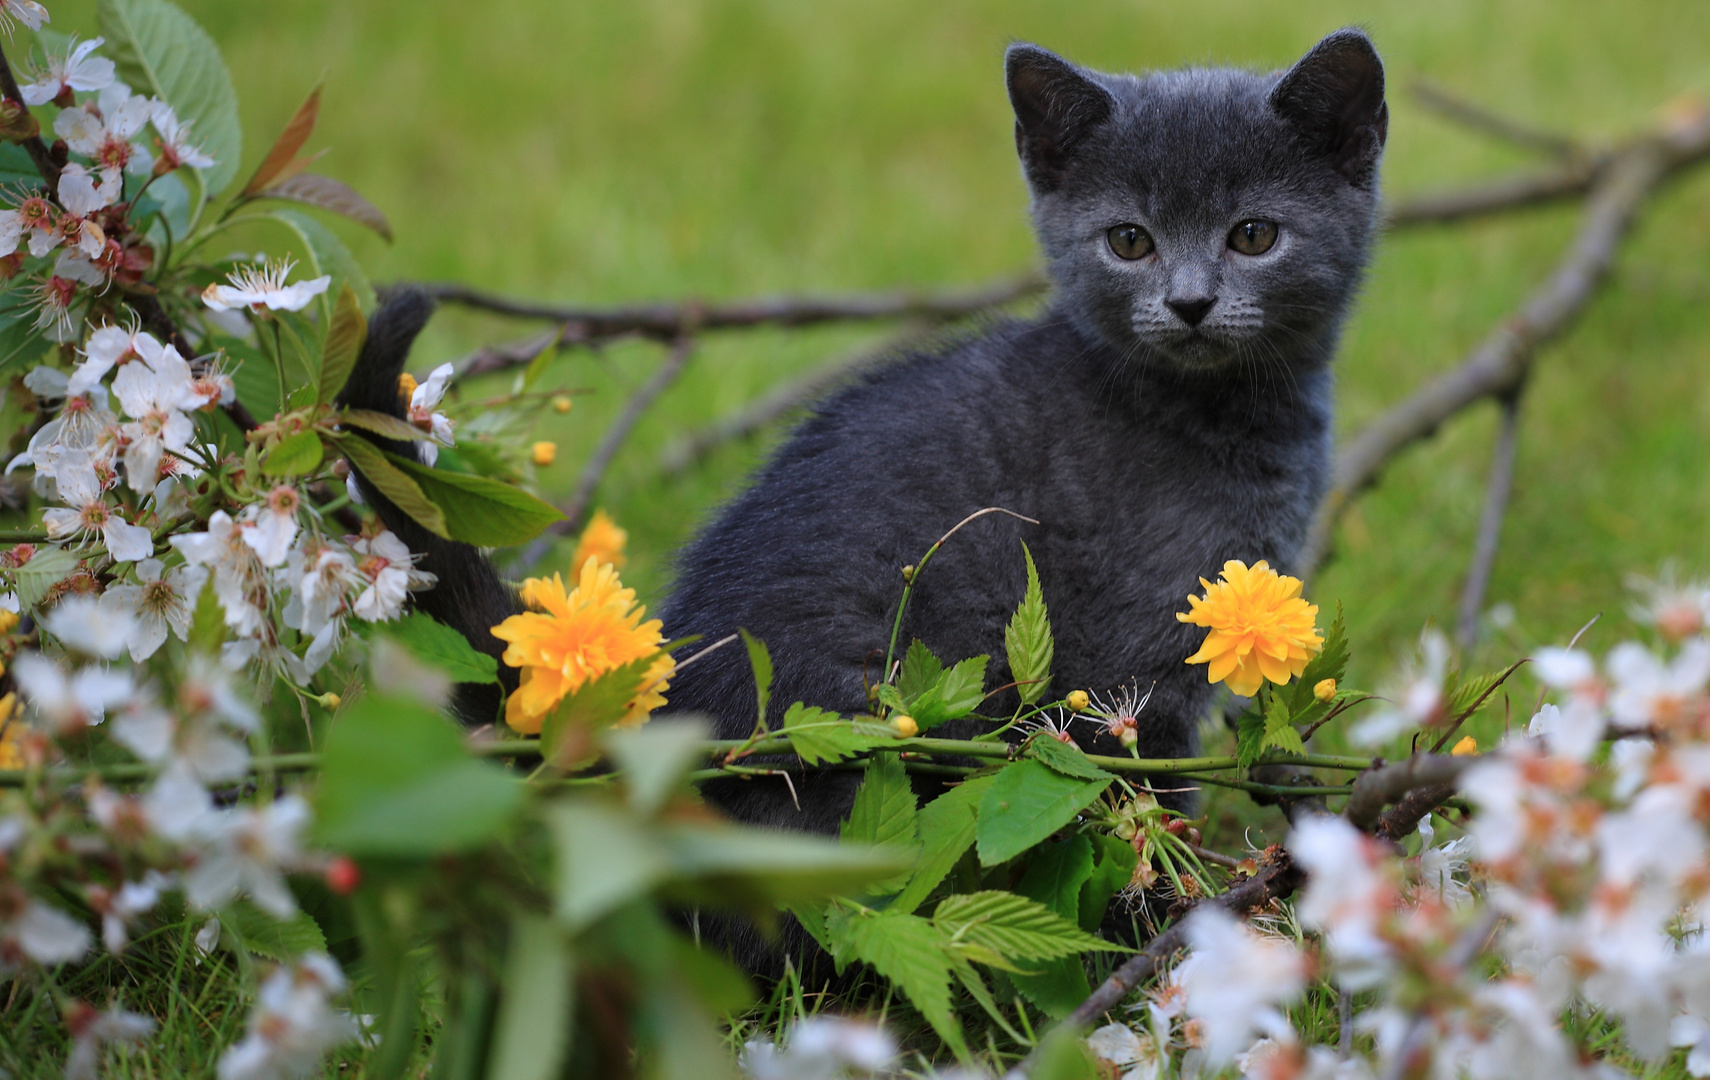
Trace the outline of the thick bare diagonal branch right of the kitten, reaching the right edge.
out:
[[[1459,367],[1378,417],[1337,455],[1330,490],[1300,557],[1303,576],[1324,561],[1330,533],[1354,496],[1375,484],[1397,453],[1474,402],[1512,393],[1524,381],[1539,347],[1561,335],[1607,279],[1645,198],[1666,178],[1705,157],[1710,157],[1710,108],[1616,156],[1597,179],[1580,231],[1556,272]]]

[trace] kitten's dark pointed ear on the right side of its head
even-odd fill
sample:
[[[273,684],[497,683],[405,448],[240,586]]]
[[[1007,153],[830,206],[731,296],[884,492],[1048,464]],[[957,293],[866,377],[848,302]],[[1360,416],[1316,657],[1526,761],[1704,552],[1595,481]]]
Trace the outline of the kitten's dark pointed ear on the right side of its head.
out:
[[[1271,91],[1271,108],[1351,185],[1371,183],[1389,135],[1389,104],[1383,62],[1361,31],[1336,31],[1315,44]]]

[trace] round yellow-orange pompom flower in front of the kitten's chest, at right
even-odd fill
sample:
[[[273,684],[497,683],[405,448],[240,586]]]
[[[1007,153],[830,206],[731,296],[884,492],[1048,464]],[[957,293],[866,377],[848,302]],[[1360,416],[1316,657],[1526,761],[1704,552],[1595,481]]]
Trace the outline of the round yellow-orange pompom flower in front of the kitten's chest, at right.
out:
[[[1187,658],[1209,665],[1207,682],[1228,682],[1241,697],[1252,697],[1267,678],[1284,684],[1300,675],[1324,646],[1318,605],[1301,600],[1300,578],[1284,578],[1262,559],[1252,567],[1231,559],[1216,584],[1204,578],[1199,583],[1206,595],[1188,596],[1194,610],[1176,619],[1211,631]]]

